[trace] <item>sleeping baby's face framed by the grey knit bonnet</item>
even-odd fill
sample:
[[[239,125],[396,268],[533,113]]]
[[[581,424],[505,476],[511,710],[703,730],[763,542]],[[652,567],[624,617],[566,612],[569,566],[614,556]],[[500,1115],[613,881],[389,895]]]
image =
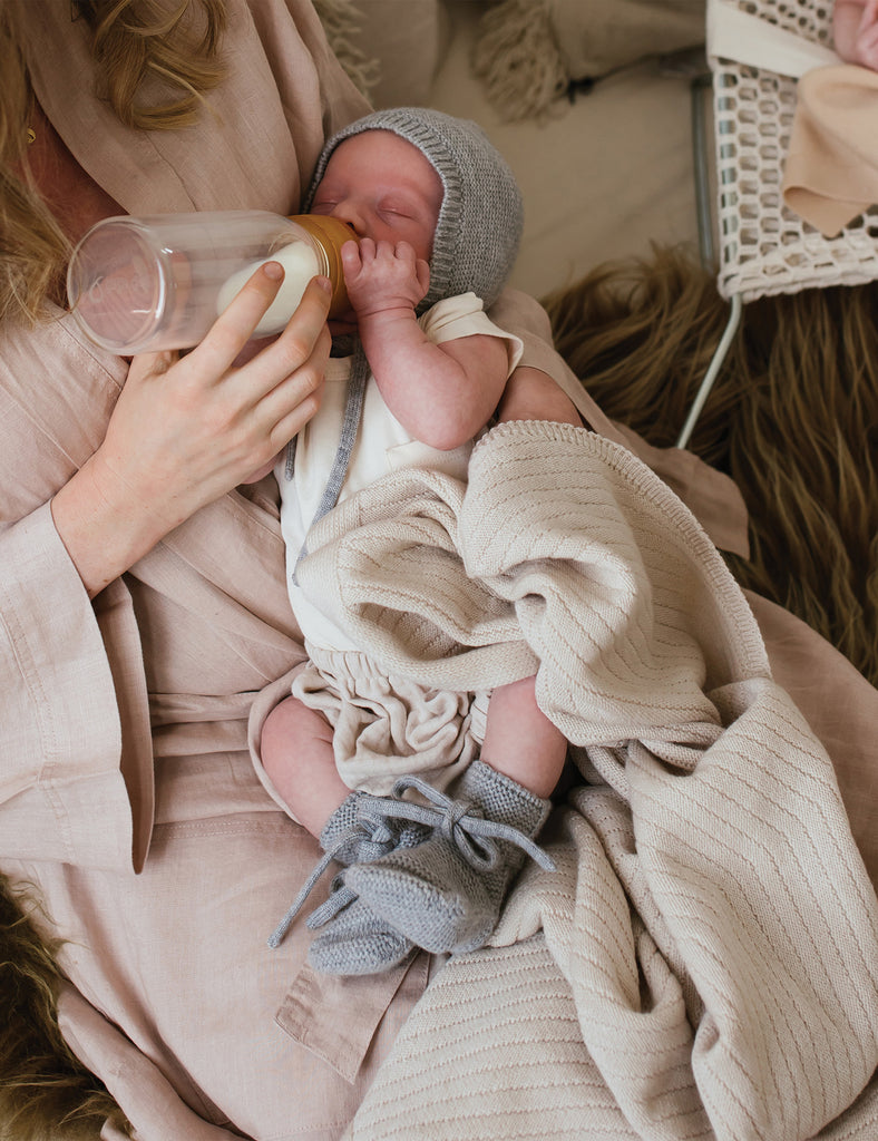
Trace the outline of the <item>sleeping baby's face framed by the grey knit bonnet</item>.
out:
[[[333,151],[311,213],[349,222],[358,237],[408,242],[429,261],[442,195],[439,175],[414,144],[391,131],[363,131]]]

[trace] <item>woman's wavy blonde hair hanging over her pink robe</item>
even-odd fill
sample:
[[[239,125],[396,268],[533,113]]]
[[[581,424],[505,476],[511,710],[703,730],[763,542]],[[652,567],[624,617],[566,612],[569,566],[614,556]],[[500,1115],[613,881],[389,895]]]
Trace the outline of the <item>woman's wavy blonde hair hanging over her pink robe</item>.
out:
[[[78,0],[92,37],[97,95],[136,130],[195,119],[223,75],[225,0]],[[145,94],[148,92],[148,94]],[[27,164],[33,95],[11,8],[0,5],[0,321],[39,319],[60,300],[70,243],[36,192]]]

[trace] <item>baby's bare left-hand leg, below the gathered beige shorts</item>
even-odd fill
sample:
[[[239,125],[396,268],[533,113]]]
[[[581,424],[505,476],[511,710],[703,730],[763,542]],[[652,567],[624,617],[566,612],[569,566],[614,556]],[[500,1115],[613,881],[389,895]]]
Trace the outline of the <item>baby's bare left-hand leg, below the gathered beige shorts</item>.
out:
[[[293,816],[312,836],[350,794],[339,776],[332,727],[323,713],[287,697],[262,727],[262,764]]]

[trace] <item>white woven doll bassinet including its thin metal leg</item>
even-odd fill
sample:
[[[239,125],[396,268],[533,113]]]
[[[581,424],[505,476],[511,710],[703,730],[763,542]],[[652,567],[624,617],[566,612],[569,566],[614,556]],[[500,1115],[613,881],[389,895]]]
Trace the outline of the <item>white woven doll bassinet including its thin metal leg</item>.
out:
[[[677,447],[689,443],[745,302],[878,278],[878,209],[827,238],[783,204],[796,82],[812,67],[839,63],[831,42],[832,0],[707,2],[718,192],[717,289],[731,301],[731,310]],[[704,171],[697,170],[701,196],[705,181]]]

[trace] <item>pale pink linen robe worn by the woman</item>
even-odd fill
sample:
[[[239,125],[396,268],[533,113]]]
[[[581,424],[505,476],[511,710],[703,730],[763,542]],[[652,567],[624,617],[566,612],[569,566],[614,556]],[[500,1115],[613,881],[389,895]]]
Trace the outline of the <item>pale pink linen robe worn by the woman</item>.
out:
[[[17,7],[42,108],[130,213],[294,212],[325,135],[368,110],[306,0],[228,7],[213,113],[148,133],[88,94],[70,0]],[[266,946],[318,856],[247,750],[253,695],[302,658],[271,484],[198,512],[92,605],[49,501],[124,378],[62,313],[0,332],[0,867],[65,939],[63,1031],[139,1136],[328,1141],[428,960],[344,985],[303,970],[303,929]]]

